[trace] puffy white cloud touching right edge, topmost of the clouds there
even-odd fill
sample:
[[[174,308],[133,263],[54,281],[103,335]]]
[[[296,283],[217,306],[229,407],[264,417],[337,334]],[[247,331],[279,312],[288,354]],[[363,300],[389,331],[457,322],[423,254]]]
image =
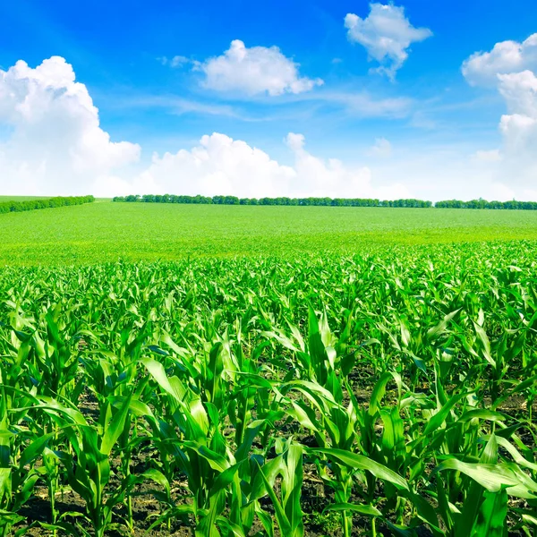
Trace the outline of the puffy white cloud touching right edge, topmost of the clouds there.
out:
[[[462,66],[472,86],[496,86],[498,76],[537,69],[537,33],[522,43],[502,41],[490,52],[476,52]]]

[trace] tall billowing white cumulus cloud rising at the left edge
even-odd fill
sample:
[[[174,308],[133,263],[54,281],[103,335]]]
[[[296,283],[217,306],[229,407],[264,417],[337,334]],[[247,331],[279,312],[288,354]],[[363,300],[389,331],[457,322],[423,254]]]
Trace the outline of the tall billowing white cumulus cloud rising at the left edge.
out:
[[[87,193],[114,170],[136,162],[140,146],[113,142],[72,66],[53,56],[0,70],[0,186],[5,193]]]

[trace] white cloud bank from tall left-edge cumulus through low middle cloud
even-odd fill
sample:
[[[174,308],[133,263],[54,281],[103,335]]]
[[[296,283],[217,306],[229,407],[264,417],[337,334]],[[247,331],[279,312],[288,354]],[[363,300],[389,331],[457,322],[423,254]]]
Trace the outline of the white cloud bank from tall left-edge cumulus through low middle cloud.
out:
[[[279,54],[279,53],[278,53]],[[289,133],[293,166],[221,133],[205,135],[192,149],[153,155],[133,171],[141,147],[114,142],[104,131],[86,86],[72,66],[54,56],[36,68],[20,61],[0,70],[0,190],[9,194],[125,193],[234,194],[239,196],[345,196],[396,198],[401,184],[376,187],[371,170],[323,160]]]

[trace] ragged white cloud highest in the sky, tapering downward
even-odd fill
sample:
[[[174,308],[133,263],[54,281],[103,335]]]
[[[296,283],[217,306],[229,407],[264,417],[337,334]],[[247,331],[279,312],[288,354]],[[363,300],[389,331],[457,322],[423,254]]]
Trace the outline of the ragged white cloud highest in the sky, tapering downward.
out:
[[[432,36],[427,28],[414,28],[405,17],[405,8],[393,4],[370,4],[370,13],[361,19],[354,13],[345,16],[347,37],[366,48],[370,60],[380,66],[375,71],[383,72],[393,79],[405,63],[413,43]]]

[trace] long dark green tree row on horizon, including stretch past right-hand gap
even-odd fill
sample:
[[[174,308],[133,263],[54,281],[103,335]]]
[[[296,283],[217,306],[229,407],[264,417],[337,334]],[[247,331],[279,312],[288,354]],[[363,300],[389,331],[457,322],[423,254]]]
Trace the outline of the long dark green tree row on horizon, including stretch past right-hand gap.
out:
[[[299,205],[330,207],[405,207],[436,209],[524,209],[537,210],[537,201],[444,200],[432,203],[425,200],[373,200],[371,198],[238,198],[236,196],[175,196],[146,194],[116,196],[114,201],[142,203],[200,203],[212,205]]]

